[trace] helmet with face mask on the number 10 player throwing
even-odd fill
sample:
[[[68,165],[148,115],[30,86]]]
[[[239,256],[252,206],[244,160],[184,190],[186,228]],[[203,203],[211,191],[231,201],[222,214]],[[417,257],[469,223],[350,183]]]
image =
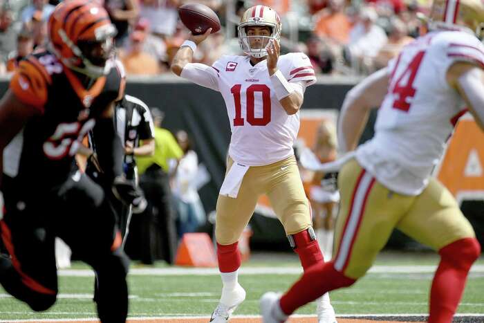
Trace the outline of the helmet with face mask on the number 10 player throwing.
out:
[[[267,36],[248,36],[245,32],[245,27],[248,26],[268,26],[271,30],[269,37]],[[243,53],[252,57],[260,58],[267,56],[267,46],[270,39],[281,39],[281,18],[277,12],[268,6],[253,6],[245,10],[239,23],[239,44]],[[250,46],[250,37],[262,37],[263,44],[261,48],[252,48]]]

